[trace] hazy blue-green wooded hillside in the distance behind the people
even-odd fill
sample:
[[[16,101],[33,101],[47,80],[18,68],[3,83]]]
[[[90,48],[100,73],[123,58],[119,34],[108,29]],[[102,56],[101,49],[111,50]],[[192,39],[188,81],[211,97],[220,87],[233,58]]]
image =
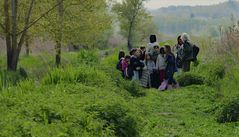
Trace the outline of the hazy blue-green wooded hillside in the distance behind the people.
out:
[[[151,11],[161,33],[190,32],[194,35],[219,35],[220,25],[238,19],[239,2],[228,1],[211,6],[171,6]]]

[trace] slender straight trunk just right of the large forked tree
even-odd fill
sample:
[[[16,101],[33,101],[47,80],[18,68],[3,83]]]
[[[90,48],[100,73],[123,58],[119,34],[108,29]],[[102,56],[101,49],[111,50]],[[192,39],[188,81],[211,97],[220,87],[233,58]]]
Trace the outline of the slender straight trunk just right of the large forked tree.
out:
[[[62,46],[62,35],[63,35],[63,21],[64,21],[64,5],[63,0],[56,0],[59,3],[58,6],[58,34],[56,41],[56,65],[57,67],[61,64],[61,46]]]

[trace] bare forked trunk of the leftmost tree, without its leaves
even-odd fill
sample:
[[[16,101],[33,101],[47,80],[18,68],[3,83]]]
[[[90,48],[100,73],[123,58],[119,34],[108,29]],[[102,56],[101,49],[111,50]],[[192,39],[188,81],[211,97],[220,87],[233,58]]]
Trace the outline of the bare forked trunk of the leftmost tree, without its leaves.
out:
[[[26,36],[26,28],[29,27],[35,0],[31,0],[27,9],[24,21],[24,27],[18,32],[18,0],[4,0],[4,25],[6,45],[7,45],[7,69],[16,70],[21,47]],[[10,6],[11,4],[11,6]],[[10,9],[11,8],[11,9]],[[10,12],[11,11],[11,12]],[[10,15],[11,13],[11,15]],[[11,18],[11,19],[10,19]]]

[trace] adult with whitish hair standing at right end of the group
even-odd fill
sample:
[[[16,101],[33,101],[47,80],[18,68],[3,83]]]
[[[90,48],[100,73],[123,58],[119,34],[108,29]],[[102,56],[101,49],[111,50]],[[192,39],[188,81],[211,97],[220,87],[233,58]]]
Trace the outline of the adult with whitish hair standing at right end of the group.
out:
[[[187,33],[181,35],[181,40],[183,42],[182,55],[180,55],[182,69],[184,72],[188,72],[190,71],[191,60],[193,59],[193,46],[190,43],[190,37]]]

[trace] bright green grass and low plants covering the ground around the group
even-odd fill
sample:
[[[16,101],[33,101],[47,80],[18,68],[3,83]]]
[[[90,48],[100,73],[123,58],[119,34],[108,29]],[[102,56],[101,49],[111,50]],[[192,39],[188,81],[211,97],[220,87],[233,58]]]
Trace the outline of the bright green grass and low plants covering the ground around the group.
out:
[[[61,68],[23,57],[28,78],[0,89],[0,137],[238,137],[238,122],[217,121],[238,96],[237,67],[201,63],[187,77],[203,83],[160,92],[124,81],[116,55],[99,56],[64,53]]]

